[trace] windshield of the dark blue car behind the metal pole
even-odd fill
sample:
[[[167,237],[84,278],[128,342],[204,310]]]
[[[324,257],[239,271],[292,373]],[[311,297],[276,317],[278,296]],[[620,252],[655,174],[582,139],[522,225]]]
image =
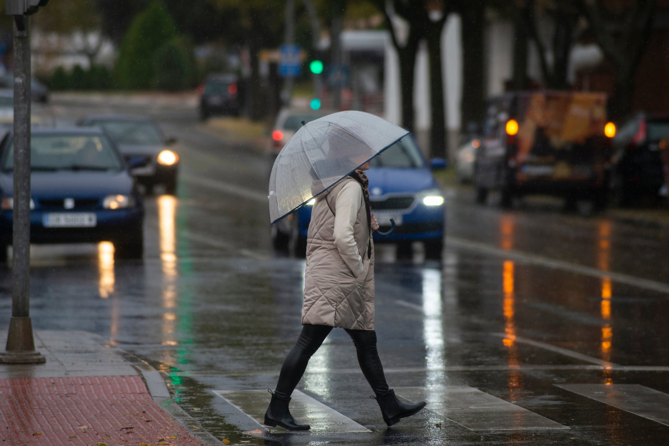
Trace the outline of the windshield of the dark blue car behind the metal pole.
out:
[[[14,166],[13,142],[9,144],[3,170]],[[30,138],[33,171],[109,171],[123,164],[112,144],[97,134],[33,134]]]

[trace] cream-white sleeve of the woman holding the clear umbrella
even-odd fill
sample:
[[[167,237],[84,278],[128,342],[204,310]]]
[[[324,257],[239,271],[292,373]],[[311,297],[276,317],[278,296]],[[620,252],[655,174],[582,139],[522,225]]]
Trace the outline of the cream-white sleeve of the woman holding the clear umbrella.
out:
[[[363,188],[355,181],[347,183],[337,195],[334,215],[334,245],[355,277],[363,272],[363,259],[353,237],[353,225],[362,206]]]

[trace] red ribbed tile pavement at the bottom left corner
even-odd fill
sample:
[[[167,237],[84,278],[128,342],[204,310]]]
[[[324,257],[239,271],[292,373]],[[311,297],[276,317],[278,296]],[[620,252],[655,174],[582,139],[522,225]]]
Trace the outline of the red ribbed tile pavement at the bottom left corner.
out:
[[[0,446],[203,444],[139,376],[0,379],[0,417]]]

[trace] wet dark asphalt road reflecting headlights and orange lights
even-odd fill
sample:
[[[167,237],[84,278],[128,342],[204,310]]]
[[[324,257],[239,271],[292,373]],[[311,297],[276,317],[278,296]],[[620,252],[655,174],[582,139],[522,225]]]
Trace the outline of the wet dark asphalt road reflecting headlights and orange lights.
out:
[[[442,263],[423,261],[419,249],[398,260],[391,246],[379,247],[379,354],[391,388],[405,395],[464,404],[444,397],[444,386],[467,386],[503,408],[469,404],[466,417],[446,417],[431,403],[387,429],[353,344],[334,330],[298,388],[371,432],[244,434],[258,425],[213,391],[274,388],[300,330],[304,260],[271,250],[262,152],[205,132],[189,104],[56,98],[43,110],[58,122],[130,111],[152,114],[179,138],[177,197],[147,197],[143,261],[114,261],[105,244],[35,247],[35,328],[95,332],[147,360],[186,411],[233,443],[669,443],[666,407],[662,415],[669,394],[667,229],[545,206],[501,211],[491,200],[480,207],[462,189],[447,191]],[[5,268],[0,309],[6,330]],[[601,385],[570,391],[571,384]],[[607,388],[628,396],[596,401]],[[512,416],[503,413],[509,407]],[[527,413],[517,415],[516,407],[538,415],[543,427],[527,429]]]

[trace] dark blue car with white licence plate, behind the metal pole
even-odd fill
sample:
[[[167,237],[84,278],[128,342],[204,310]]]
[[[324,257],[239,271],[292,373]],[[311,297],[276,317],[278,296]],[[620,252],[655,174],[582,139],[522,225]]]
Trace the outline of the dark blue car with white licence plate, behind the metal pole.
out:
[[[100,128],[31,134],[31,243],[112,241],[117,257],[140,258],[144,207],[122,156]],[[0,261],[13,222],[13,137],[0,142]]]

